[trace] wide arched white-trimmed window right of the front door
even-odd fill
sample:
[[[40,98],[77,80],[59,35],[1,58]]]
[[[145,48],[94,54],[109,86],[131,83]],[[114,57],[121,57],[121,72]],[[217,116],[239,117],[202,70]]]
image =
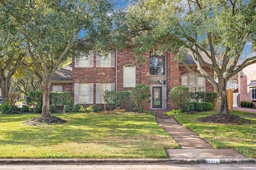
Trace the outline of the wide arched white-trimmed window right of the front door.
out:
[[[192,73],[181,76],[182,86],[188,87],[191,92],[205,92],[205,78]]]

